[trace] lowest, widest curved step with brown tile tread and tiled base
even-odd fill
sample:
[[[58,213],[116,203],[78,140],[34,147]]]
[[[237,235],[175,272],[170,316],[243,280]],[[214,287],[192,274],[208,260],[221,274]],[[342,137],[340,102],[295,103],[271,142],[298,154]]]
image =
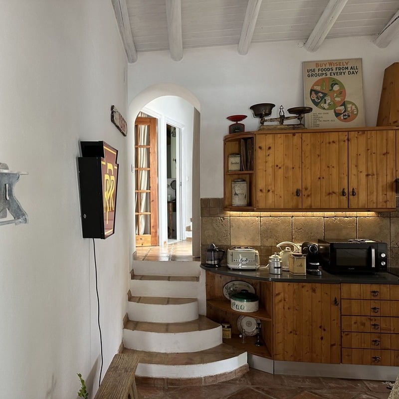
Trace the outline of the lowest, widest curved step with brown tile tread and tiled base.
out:
[[[193,379],[190,385],[206,385],[240,377],[248,371],[246,352],[226,344],[189,353],[156,353],[127,348],[123,352],[139,356],[136,381],[143,383],[149,383],[151,378],[167,378]]]

